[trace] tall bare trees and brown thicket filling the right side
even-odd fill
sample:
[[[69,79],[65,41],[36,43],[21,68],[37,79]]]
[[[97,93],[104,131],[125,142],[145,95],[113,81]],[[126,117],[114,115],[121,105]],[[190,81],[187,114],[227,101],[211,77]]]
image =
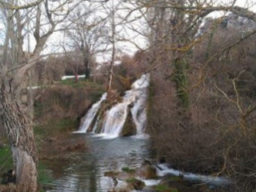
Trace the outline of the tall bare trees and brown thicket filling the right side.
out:
[[[155,111],[150,111],[154,114],[150,116],[154,118],[150,123],[150,131],[160,153],[165,150],[163,155],[166,155],[170,151],[170,156],[166,155],[166,158],[170,158],[173,163],[177,162],[186,168],[188,164],[194,163],[192,168],[189,167],[192,170],[196,166],[200,169],[206,167],[207,170],[210,164],[217,164],[218,169],[214,170],[216,167],[213,166],[213,172],[239,178],[242,186],[246,188],[241,191],[254,191],[255,164],[252,159],[255,158],[255,153],[252,154],[250,149],[254,148],[255,143],[255,139],[251,137],[255,129],[252,125],[255,119],[255,98],[251,98],[253,94],[246,95],[249,91],[246,86],[252,83],[247,78],[254,79],[255,75],[251,75],[254,70],[243,66],[250,57],[254,58],[254,54],[246,53],[241,44],[254,35],[256,30],[245,32],[245,29],[242,29],[242,35],[232,38],[224,46],[226,38],[234,31],[226,30],[226,36],[217,42],[215,36],[221,34],[219,24],[223,21],[218,18],[210,27],[209,34],[198,35],[199,26],[214,10],[231,11],[255,21],[254,12],[234,6],[234,2],[227,6],[217,5],[216,1],[138,2],[139,9],[143,7],[151,14],[151,17],[146,18],[146,22],[151,31],[149,52],[153,57],[150,57],[149,61],[154,66],[151,67],[154,69],[151,77],[155,85],[154,102],[157,104],[153,104],[151,108]],[[210,37],[211,34],[214,34],[214,38]],[[207,53],[209,44],[215,46],[215,49],[210,49],[214,51]],[[201,56],[205,57],[203,61],[196,58],[197,46],[206,50],[203,50],[205,52]],[[246,47],[250,52],[252,47]],[[243,52],[243,57],[249,58],[247,61],[241,56],[234,58],[240,51]],[[230,72],[227,67],[235,72],[227,73],[226,77],[224,71]],[[178,100],[172,97],[174,91],[170,87],[175,90]],[[250,89],[254,89],[253,87],[250,86]],[[189,102],[187,97],[190,98]],[[158,99],[161,102],[158,102]],[[166,106],[168,102],[171,103]],[[181,104],[186,110],[177,107]],[[166,145],[167,142],[169,144]],[[197,146],[201,148],[197,149]],[[186,152],[182,154],[181,151]],[[181,163],[182,161],[184,162]],[[248,162],[251,162],[250,168],[247,166]]]

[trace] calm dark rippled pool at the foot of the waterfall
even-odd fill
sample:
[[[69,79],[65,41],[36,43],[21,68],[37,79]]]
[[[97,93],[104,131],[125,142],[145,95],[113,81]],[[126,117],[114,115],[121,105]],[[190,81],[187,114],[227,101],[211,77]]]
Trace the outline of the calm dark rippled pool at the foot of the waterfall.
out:
[[[89,150],[71,157],[47,192],[104,192],[113,186],[111,179],[104,177],[106,171],[121,170],[125,166],[135,168],[150,158],[147,139],[102,139],[76,134],[72,137],[85,138]],[[59,166],[61,164],[59,162]]]

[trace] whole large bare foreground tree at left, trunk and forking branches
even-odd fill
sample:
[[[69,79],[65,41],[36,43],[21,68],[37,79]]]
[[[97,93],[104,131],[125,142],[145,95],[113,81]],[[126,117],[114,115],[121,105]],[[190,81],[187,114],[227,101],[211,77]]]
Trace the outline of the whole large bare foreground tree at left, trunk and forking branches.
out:
[[[1,62],[1,113],[9,138],[14,166],[16,170],[18,191],[37,191],[38,154],[34,142],[32,127],[33,109],[28,104],[26,74],[35,66],[47,39],[59,23],[65,21],[67,14],[76,6],[68,1],[37,1],[18,5],[16,1],[4,2],[2,10],[6,15],[6,38]],[[61,7],[69,8],[65,13]],[[25,9],[30,8],[30,11]],[[28,57],[23,50],[26,14],[30,14],[34,26],[36,46]],[[42,18],[46,18],[42,23]]]

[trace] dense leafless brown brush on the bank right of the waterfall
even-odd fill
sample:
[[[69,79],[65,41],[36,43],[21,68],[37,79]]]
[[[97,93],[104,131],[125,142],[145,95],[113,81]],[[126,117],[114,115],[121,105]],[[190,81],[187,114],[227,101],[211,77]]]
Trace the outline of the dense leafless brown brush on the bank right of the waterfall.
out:
[[[254,191],[255,37],[221,51],[240,38],[239,31],[218,29],[212,40],[195,47],[188,71],[188,110],[177,105],[164,66],[152,72],[149,132],[159,158],[173,166],[226,175],[237,179],[241,191]]]

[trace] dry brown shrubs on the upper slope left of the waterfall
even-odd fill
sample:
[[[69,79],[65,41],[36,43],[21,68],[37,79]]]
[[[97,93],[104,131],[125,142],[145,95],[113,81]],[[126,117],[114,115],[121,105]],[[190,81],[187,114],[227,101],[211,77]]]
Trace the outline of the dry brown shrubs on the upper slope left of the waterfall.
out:
[[[50,119],[81,118],[101,94],[102,86],[90,82],[78,88],[53,86],[44,90],[35,102],[35,118],[44,123]]]

